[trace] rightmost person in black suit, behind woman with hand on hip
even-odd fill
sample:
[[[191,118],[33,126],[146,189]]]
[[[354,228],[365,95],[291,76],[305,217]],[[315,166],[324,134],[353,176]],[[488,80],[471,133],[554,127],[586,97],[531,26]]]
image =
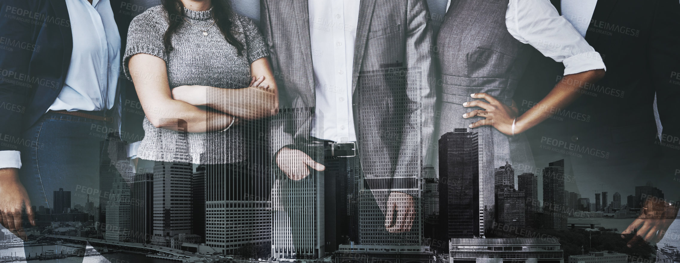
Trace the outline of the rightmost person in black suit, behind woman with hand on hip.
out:
[[[549,137],[576,147],[588,149],[579,156],[563,156],[570,160],[581,194],[607,188],[630,192],[650,181],[663,190],[666,198],[678,196],[678,160],[680,160],[680,2],[553,0],[564,18],[604,58],[607,76],[598,82],[581,82],[585,87],[579,101],[566,108],[588,116],[551,120],[537,130],[536,149]],[[562,77],[561,65],[534,54],[532,67],[546,78],[526,74],[524,94],[545,92],[547,86]],[[655,122],[655,94],[658,121]],[[659,135],[660,134],[660,135]],[[624,192],[622,192],[623,194]],[[660,196],[654,196],[659,198]],[[647,207],[644,200],[635,206]],[[602,204],[607,207],[608,204]],[[663,202],[656,203],[654,207]],[[644,210],[644,209],[643,209]],[[656,211],[658,213],[660,211]],[[651,213],[642,211],[641,213]],[[666,216],[666,215],[664,215]],[[675,216],[671,216],[675,217]],[[677,221],[677,220],[676,220]],[[673,220],[638,219],[624,233],[637,230],[637,235],[650,243],[662,240]],[[677,222],[675,223],[677,224]],[[629,245],[635,245],[635,239]]]

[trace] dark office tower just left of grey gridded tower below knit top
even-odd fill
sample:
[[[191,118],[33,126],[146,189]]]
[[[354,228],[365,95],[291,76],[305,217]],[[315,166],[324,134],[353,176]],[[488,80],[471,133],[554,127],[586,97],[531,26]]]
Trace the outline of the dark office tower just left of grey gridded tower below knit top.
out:
[[[130,241],[150,243],[154,220],[154,174],[135,175],[131,180],[130,188]]]

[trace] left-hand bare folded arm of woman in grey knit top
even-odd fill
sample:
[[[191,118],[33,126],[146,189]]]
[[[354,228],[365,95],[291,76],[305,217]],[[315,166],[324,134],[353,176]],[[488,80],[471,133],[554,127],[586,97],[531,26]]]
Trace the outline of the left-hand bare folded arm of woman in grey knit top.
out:
[[[223,130],[233,120],[226,113],[207,113],[205,109],[177,101],[171,96],[165,61],[150,54],[135,54],[129,61],[130,75],[146,118],[159,127],[163,119],[182,119],[189,133]],[[209,124],[209,125],[208,125]]]

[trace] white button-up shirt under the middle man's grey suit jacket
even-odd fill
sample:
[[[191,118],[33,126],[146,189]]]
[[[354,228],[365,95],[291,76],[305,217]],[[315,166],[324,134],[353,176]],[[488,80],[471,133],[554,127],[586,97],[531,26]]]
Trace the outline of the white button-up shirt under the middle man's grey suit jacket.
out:
[[[311,136],[356,141],[352,67],[360,0],[309,1],[316,109]]]

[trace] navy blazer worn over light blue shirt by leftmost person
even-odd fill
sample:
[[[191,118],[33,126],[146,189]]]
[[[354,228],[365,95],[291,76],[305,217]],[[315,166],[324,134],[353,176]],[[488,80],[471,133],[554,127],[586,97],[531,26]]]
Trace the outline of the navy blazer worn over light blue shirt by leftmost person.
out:
[[[111,1],[125,39],[131,16],[120,12],[121,2]],[[25,145],[22,132],[61,92],[73,49],[70,24],[64,0],[0,0],[0,151]]]

